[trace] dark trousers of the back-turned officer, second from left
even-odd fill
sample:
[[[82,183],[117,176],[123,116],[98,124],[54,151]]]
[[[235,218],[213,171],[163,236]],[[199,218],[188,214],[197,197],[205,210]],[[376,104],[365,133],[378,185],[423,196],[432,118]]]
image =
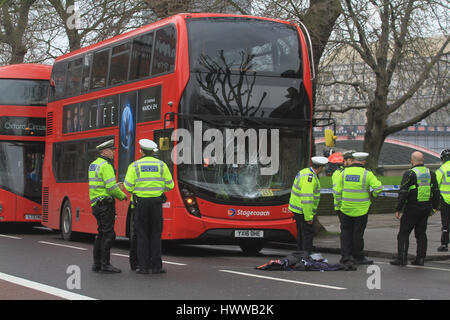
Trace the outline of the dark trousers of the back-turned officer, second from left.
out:
[[[161,234],[163,228],[160,198],[138,198],[134,222],[137,232],[137,257],[141,269],[160,270]]]

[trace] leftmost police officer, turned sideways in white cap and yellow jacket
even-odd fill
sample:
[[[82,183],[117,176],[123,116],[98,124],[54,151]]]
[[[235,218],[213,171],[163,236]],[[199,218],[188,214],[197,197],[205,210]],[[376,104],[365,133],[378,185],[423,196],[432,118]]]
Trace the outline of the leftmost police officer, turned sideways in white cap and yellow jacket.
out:
[[[110,249],[116,234],[114,223],[116,219],[115,201],[125,200],[125,193],[116,183],[114,172],[114,139],[108,140],[96,147],[100,152],[98,158],[89,166],[89,198],[92,214],[97,219],[98,234],[94,242],[95,272],[119,273],[120,269],[110,264]]]

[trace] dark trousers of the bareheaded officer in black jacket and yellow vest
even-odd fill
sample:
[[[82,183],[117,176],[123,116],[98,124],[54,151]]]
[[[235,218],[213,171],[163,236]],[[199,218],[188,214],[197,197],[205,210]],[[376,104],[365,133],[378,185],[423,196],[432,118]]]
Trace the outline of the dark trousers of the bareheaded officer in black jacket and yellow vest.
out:
[[[431,208],[408,207],[400,219],[400,231],[397,235],[398,259],[406,261],[408,257],[409,235],[414,229],[417,241],[417,259],[423,258],[427,254],[427,223]]]

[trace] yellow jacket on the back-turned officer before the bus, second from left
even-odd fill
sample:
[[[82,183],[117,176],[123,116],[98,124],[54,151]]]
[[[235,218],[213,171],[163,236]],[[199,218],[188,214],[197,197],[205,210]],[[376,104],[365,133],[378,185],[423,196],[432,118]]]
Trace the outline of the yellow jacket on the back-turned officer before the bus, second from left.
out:
[[[167,164],[153,157],[143,157],[130,164],[124,185],[141,198],[160,197],[174,187]]]

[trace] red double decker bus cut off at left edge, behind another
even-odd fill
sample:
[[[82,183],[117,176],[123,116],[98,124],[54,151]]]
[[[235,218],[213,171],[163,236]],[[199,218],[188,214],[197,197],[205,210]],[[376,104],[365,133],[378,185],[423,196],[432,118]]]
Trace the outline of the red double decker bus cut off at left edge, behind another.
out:
[[[0,223],[40,222],[51,66],[0,67]]]

